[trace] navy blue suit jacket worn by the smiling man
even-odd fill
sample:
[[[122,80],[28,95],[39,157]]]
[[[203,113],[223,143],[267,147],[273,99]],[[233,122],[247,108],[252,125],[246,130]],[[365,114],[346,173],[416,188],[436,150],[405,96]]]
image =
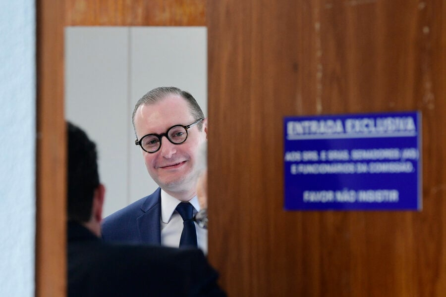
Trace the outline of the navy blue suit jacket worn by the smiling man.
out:
[[[161,245],[161,188],[104,219],[106,242]]]

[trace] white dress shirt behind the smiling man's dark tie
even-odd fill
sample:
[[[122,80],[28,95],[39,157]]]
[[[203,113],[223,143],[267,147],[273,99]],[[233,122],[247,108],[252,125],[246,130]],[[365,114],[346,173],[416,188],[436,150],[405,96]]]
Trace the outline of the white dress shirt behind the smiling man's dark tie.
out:
[[[175,210],[181,201],[168,195],[163,189],[161,190],[161,244],[167,247],[178,247],[183,231],[183,219]],[[189,202],[194,206],[193,213],[200,210],[198,198],[195,196]],[[200,228],[196,222],[195,230],[197,230],[198,247],[208,254],[208,230]]]

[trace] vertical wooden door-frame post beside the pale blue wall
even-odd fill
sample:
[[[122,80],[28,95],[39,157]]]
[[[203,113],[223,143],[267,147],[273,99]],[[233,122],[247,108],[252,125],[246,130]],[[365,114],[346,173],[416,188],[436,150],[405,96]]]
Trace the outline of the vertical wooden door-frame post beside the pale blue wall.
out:
[[[63,1],[37,2],[36,296],[66,291]]]

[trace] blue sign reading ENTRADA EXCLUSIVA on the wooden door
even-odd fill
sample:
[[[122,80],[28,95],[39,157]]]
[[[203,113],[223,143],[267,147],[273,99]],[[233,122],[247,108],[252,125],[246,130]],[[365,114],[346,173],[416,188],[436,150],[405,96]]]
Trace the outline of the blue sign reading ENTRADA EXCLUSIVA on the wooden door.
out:
[[[284,118],[286,210],[421,210],[421,114]]]

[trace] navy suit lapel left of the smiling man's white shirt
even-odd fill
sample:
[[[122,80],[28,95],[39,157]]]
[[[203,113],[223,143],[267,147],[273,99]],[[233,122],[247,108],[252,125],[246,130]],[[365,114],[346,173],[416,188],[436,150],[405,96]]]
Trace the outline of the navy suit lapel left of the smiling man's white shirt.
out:
[[[141,205],[144,212],[136,219],[142,243],[161,245],[161,189],[158,188]]]

